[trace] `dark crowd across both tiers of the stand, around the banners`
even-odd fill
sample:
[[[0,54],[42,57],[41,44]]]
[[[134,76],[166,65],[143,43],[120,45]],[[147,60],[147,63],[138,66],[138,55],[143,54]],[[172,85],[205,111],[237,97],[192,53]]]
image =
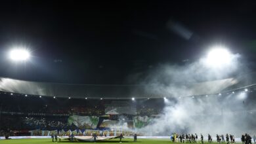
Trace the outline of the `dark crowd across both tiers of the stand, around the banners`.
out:
[[[119,103],[120,102],[120,103]],[[154,100],[152,103],[155,103]],[[160,99],[161,102],[161,99]],[[125,107],[135,107],[135,115],[127,114],[126,111],[117,115],[106,117],[106,105],[117,106],[127,103]],[[118,104],[119,103],[119,104]],[[24,94],[11,94],[0,92],[0,130],[11,132],[29,130],[75,130],[78,126],[69,125],[68,119],[72,115],[99,117],[97,128],[105,118],[109,120],[133,121],[135,116],[158,115],[161,111],[159,105],[149,107],[145,103],[137,101],[135,105],[131,100],[111,99],[68,99],[42,96],[25,96]],[[114,105],[114,106],[116,106]],[[155,107],[153,109],[152,107]],[[14,135],[12,133],[12,135]],[[22,135],[22,134],[20,134]]]

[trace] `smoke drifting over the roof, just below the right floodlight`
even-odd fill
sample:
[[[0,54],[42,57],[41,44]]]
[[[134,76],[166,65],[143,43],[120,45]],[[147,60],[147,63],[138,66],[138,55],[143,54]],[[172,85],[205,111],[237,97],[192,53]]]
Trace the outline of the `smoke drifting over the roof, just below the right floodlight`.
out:
[[[237,75],[238,70],[244,67],[238,62],[239,58],[239,54],[232,54],[231,63],[220,67],[212,67],[211,63],[207,63],[207,58],[186,65],[160,64],[139,81],[150,85],[145,89],[146,93],[158,96],[179,98],[214,94],[237,83],[230,75]]]

